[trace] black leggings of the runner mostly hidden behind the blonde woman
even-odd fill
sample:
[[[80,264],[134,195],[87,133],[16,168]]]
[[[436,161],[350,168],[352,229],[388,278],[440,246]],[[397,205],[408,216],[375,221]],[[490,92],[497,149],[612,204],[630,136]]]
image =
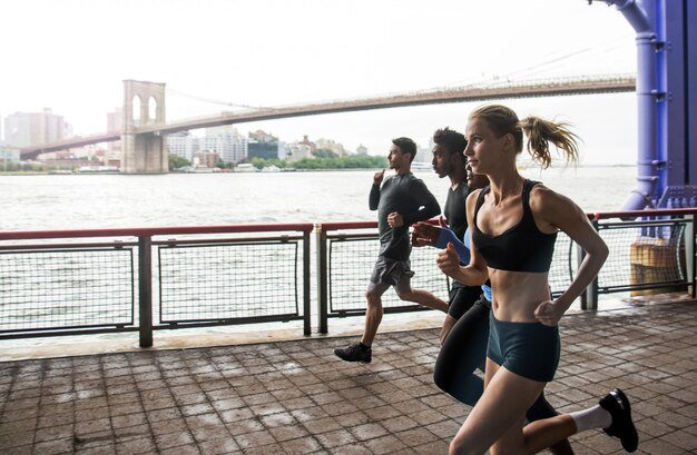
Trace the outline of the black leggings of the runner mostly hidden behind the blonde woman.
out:
[[[482,295],[455,323],[448,334],[435,360],[433,380],[455,399],[474,406],[484,390],[484,382],[474,370],[484,370],[489,342],[491,304]],[[529,422],[558,415],[544,395],[532,404],[526,417]]]

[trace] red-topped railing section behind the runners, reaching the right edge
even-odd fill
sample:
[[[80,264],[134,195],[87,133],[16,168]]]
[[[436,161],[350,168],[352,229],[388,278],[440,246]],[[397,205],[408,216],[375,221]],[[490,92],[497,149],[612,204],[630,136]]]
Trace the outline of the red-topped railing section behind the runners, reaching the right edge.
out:
[[[581,295],[582,309],[597,309],[598,296],[612,293],[691,289],[695,297],[695,216],[697,209],[635,210],[593,214],[588,217],[610,249],[598,277]],[[613,221],[613,218],[621,218]],[[328,319],[362,315],[367,276],[377,256],[376,222],[328,222],[317,225],[317,314],[318,330],[327,333]],[[366,229],[371,229],[366,233]],[[352,245],[353,251],[344,251]],[[412,250],[414,288],[425,288],[446,299],[449,283],[434,264],[432,248]],[[354,264],[346,275],[342,263]],[[553,297],[571,284],[583,251],[563,233],[557,236],[549,270]],[[352,304],[345,303],[351,299]],[[393,293],[383,296],[385,313],[424,309],[399,303]]]

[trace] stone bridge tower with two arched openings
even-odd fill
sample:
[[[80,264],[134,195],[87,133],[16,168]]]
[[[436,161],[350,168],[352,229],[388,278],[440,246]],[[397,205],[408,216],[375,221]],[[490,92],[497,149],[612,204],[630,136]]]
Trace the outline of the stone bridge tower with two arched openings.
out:
[[[169,157],[165,136],[138,127],[165,125],[165,83],[124,81],[122,174],[165,174]]]

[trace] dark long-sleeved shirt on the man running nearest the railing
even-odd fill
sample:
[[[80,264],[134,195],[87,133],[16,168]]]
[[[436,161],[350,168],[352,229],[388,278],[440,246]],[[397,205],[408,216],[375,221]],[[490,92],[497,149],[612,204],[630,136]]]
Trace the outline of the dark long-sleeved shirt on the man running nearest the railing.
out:
[[[377,210],[380,231],[380,256],[394,260],[406,260],[411,253],[409,227],[441,212],[441,206],[425,184],[409,172],[387,177],[382,187],[373,185],[369,206]],[[404,218],[404,226],[391,228],[387,216],[396,211]]]

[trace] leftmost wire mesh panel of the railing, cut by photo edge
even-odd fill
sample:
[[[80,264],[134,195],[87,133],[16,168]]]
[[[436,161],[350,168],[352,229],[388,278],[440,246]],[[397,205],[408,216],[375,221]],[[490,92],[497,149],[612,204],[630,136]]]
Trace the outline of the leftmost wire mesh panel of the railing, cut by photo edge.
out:
[[[0,333],[132,324],[131,248],[0,251]]]

